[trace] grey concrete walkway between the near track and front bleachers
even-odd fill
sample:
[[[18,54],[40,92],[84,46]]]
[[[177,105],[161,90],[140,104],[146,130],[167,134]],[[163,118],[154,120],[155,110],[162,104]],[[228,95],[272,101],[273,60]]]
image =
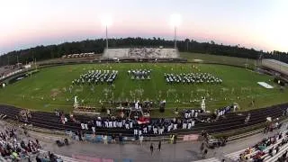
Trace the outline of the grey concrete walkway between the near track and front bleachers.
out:
[[[282,130],[285,128],[283,124]],[[240,139],[238,141],[231,142],[225,147],[209,149],[206,158],[216,157],[222,159],[224,155],[233,153],[248,147],[255,145],[258,141],[263,138],[272,136],[276,133],[269,132],[268,134],[259,133],[254,136],[250,136],[246,139]],[[136,144],[108,144],[103,143],[89,143],[80,141],[69,141],[70,145],[58,148],[56,140],[58,137],[53,135],[33,133],[31,132],[31,138],[40,139],[40,144],[44,150],[54,152],[58,155],[67,157],[94,157],[94,161],[105,159],[107,161],[195,161],[201,160],[202,155],[200,154],[200,141],[187,141],[177,144],[166,144],[162,143],[162,150],[157,150],[157,142],[154,142],[154,153],[151,156],[149,142],[144,142],[143,146]],[[46,138],[43,138],[43,137]],[[92,160],[91,160],[92,161]],[[207,160],[209,161],[209,159]]]

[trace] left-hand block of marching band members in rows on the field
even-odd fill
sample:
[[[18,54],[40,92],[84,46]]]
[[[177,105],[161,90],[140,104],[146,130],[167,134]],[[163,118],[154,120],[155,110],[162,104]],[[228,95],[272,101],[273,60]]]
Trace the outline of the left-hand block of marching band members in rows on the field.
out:
[[[72,85],[112,84],[118,75],[118,70],[89,70],[88,73],[80,75],[78,79],[72,81]]]

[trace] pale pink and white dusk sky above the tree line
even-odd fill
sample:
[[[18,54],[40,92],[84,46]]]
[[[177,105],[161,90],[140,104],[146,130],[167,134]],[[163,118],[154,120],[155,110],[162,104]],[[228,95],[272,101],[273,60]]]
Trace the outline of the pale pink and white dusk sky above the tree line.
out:
[[[177,39],[288,51],[287,0],[0,0],[0,54],[37,45],[109,37]]]

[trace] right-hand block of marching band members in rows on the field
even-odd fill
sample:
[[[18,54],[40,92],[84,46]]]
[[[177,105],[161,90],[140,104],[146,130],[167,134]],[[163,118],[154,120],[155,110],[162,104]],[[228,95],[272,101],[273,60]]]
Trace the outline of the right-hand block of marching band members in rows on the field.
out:
[[[181,73],[181,74],[164,74],[166,83],[168,84],[221,84],[222,79],[212,76],[210,73]]]

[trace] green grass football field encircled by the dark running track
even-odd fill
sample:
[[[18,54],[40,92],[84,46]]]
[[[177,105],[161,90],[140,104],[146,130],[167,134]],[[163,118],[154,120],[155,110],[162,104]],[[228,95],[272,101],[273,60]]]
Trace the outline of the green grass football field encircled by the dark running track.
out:
[[[184,53],[184,55],[187,54]],[[200,55],[200,57],[196,55]],[[193,57],[209,59],[210,56],[194,54]],[[219,58],[220,60],[229,59],[229,62],[237,61],[234,58]],[[243,60],[242,63],[241,61],[238,62],[242,64]],[[213,76],[220,77],[223,83],[221,85],[166,84],[164,73],[198,72],[192,65],[200,69],[200,72],[208,72]],[[130,80],[127,70],[136,68],[151,68],[153,70],[151,80]],[[74,85],[72,93],[70,93],[68,87],[71,85],[71,81],[90,69],[116,69],[119,70],[119,76],[114,85],[94,85],[94,92],[91,89],[92,85]],[[206,109],[208,110],[213,111],[215,108],[230,103],[238,103],[241,110],[248,110],[288,101],[288,92],[280,92],[279,87],[271,80],[273,80],[271,76],[260,75],[245,68],[212,64],[122,63],[68,65],[42,68],[39,73],[0,89],[0,103],[41,111],[63,109],[69,112],[72,110],[73,97],[77,95],[80,104],[96,107],[100,107],[100,100],[103,102],[107,100],[134,101],[148,99],[156,101],[165,99],[167,108],[178,107],[181,109],[184,107],[199,108],[201,97],[206,96]],[[258,81],[274,85],[275,88],[266,89],[257,85]],[[253,99],[256,100],[254,106],[250,104]],[[109,105],[106,104],[106,106]],[[166,115],[171,114],[172,111],[166,111]],[[156,111],[152,115],[157,116],[159,114]]]

